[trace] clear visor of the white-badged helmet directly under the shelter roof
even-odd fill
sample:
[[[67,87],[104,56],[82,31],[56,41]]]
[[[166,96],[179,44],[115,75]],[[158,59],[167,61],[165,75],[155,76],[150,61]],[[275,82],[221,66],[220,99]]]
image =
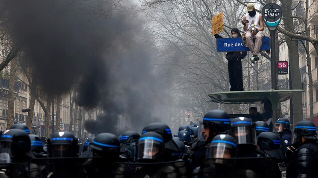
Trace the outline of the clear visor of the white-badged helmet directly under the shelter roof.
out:
[[[231,128],[231,135],[234,136],[237,144],[256,145],[256,131],[254,127],[238,126]]]

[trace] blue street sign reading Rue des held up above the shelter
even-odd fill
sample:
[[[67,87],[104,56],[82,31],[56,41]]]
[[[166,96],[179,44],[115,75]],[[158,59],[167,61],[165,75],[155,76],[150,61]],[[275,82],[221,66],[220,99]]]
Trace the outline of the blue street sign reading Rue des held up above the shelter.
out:
[[[242,38],[218,38],[216,44],[217,52],[249,51],[249,48],[243,45]],[[269,50],[269,44],[269,37],[263,37],[260,51]]]

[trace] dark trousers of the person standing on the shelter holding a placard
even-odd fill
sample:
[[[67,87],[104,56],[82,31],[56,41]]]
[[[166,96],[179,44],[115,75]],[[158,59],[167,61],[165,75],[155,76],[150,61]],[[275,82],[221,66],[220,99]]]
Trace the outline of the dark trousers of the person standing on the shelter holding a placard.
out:
[[[237,59],[229,61],[227,69],[231,85],[230,91],[244,91],[242,61]]]

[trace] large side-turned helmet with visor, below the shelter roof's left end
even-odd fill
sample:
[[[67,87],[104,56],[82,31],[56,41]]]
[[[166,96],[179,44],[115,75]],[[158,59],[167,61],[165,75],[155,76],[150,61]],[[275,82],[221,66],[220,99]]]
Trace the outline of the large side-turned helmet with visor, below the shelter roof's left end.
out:
[[[201,123],[199,125],[198,140],[210,143],[214,136],[225,133],[230,128],[230,123],[230,116],[225,111],[219,109],[210,110],[203,117],[203,125]],[[203,128],[209,129],[208,138],[199,135],[204,130]]]

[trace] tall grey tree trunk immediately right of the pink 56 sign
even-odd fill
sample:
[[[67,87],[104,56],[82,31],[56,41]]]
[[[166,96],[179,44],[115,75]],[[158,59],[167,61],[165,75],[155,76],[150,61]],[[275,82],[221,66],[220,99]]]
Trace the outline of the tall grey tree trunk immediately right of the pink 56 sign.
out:
[[[280,0],[282,3],[281,8],[283,11],[283,17],[291,17],[291,5],[290,0]],[[295,33],[294,24],[292,18],[284,18],[285,29]],[[291,38],[286,39],[286,43],[288,46],[288,55],[289,55],[289,71],[290,72],[290,80],[292,81],[292,89],[301,89],[301,80],[300,80],[300,70],[299,70],[299,53],[298,53],[298,41],[291,40]],[[292,113],[290,118],[293,120],[293,124],[298,123],[302,120],[302,94],[293,95],[292,101],[296,101],[292,103]]]

